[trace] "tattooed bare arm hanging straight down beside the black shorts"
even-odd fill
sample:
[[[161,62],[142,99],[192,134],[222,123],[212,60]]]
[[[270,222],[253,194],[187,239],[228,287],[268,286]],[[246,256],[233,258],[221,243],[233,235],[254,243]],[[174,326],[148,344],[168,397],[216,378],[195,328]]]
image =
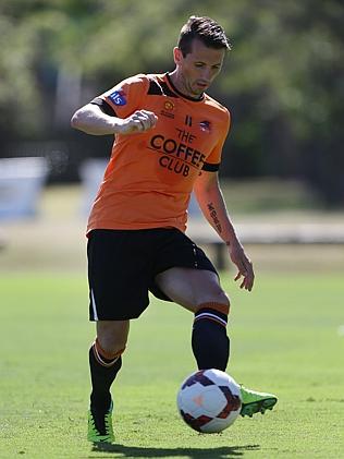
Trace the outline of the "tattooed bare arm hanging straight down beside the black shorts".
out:
[[[250,291],[255,280],[253,264],[235,232],[221,192],[218,172],[202,170],[195,182],[194,192],[202,214],[226,244],[230,257],[237,267],[234,280],[242,279],[241,288]]]

